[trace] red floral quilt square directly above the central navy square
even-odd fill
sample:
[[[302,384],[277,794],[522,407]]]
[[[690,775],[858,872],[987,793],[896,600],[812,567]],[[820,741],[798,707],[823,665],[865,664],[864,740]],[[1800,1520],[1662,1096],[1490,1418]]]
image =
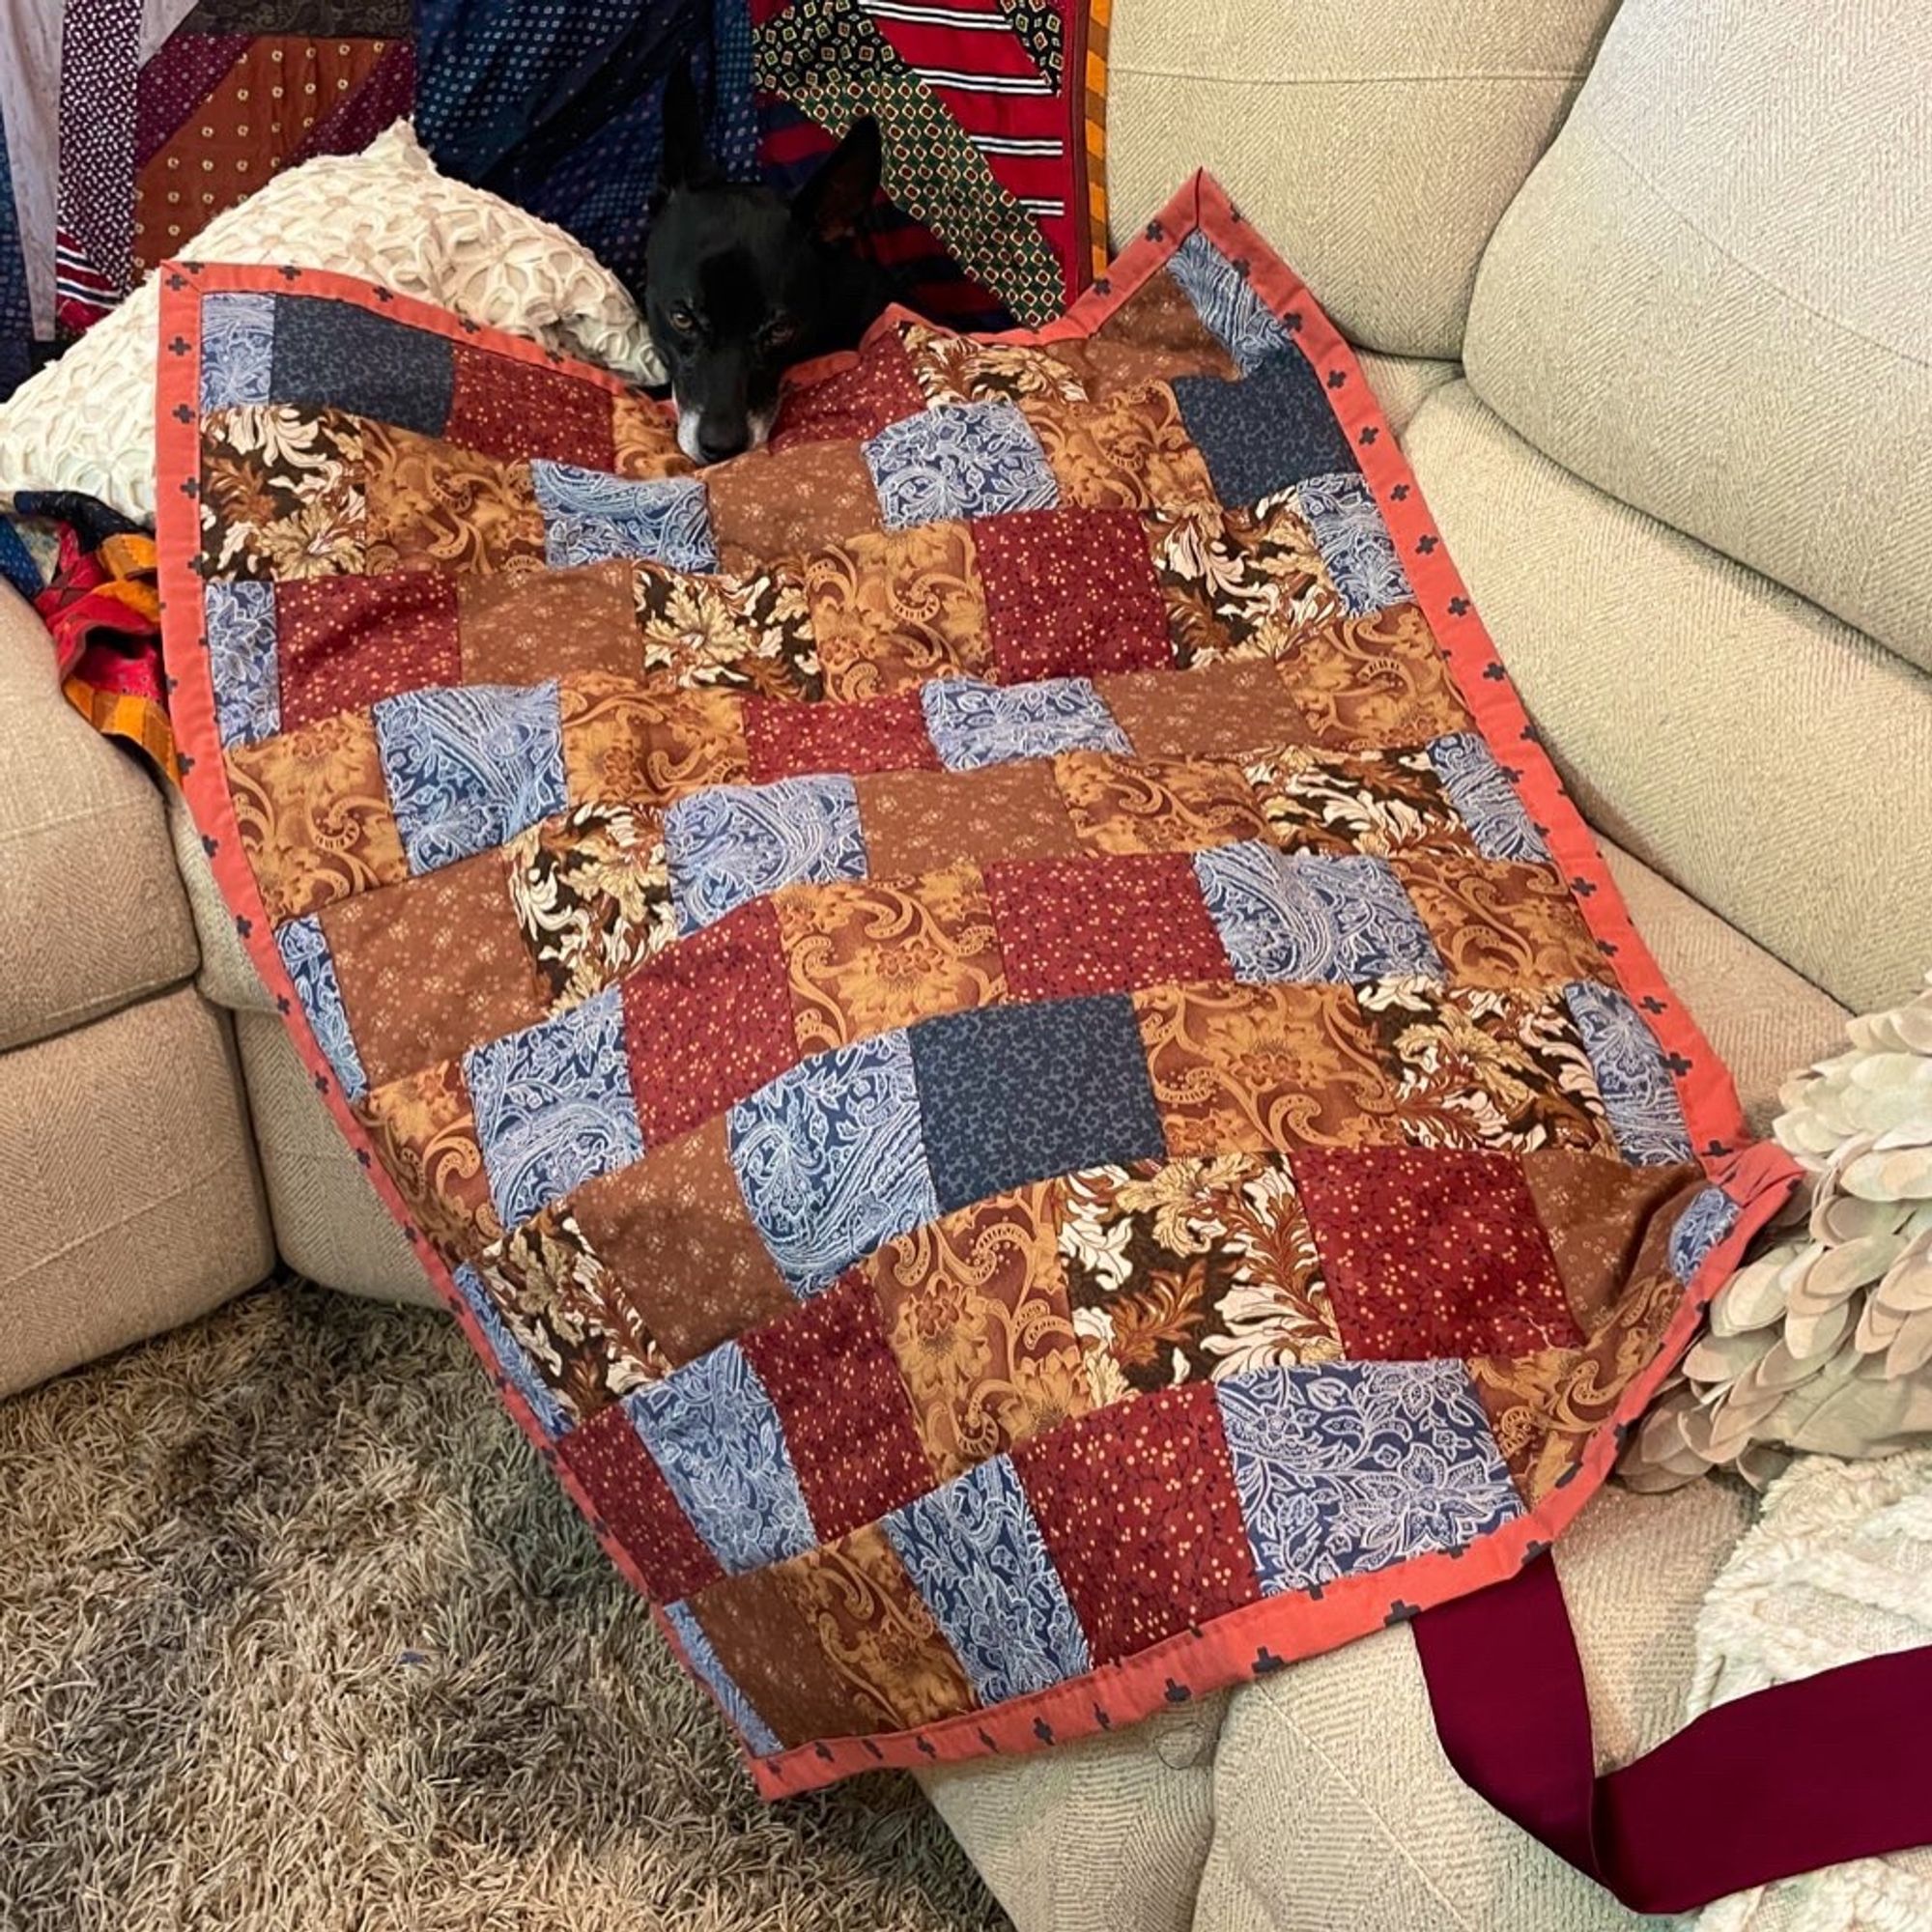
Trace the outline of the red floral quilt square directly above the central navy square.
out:
[[[1184,852],[985,867],[1014,999],[1134,993],[1233,968]]]

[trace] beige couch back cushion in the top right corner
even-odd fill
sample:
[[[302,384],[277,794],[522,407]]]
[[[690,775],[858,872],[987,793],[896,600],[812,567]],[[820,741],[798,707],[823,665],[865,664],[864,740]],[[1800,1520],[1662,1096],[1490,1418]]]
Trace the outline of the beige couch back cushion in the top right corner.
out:
[[[1932,35],[1627,0],[1484,255],[1476,392],[1932,668]]]

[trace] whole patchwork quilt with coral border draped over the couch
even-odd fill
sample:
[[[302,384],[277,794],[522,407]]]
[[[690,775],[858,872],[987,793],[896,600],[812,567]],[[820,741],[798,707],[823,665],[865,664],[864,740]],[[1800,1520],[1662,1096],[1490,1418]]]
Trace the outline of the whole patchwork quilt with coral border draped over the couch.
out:
[[[1783,1198],[1306,288],[649,400],[170,265],[184,782],[383,1198],[769,1795],[1513,1575]]]

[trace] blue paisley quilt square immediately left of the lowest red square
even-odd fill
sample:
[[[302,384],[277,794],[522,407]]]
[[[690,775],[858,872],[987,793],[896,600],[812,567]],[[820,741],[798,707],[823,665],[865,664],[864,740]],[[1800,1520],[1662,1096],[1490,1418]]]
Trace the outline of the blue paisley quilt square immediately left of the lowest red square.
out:
[[[881,1526],[981,1704],[1045,1690],[1092,1667],[1086,1633],[1009,1457],[895,1509]]]

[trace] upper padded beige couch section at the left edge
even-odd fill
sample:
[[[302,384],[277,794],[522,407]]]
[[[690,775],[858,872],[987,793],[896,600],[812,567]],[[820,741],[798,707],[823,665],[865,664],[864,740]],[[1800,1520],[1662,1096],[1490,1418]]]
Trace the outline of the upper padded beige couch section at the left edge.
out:
[[[0,583],[0,1047],[195,970],[160,790],[54,682],[46,628]]]

